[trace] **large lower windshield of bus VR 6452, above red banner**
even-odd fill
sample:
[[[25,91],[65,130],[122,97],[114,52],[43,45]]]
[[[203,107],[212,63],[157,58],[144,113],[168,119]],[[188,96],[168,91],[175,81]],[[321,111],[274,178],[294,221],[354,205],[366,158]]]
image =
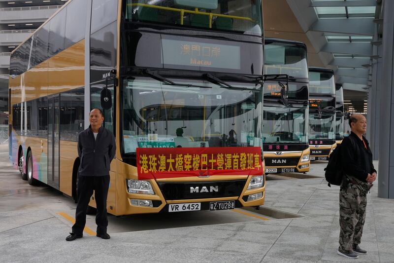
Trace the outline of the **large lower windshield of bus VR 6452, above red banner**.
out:
[[[171,79],[177,86],[147,77],[123,81],[124,153],[136,148],[262,147],[261,86]]]

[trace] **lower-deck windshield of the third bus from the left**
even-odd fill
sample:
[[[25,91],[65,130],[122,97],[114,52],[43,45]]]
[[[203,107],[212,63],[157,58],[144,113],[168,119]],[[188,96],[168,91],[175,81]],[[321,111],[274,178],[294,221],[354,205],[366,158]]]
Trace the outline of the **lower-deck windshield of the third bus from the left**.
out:
[[[334,140],[335,114],[309,113],[309,139]]]

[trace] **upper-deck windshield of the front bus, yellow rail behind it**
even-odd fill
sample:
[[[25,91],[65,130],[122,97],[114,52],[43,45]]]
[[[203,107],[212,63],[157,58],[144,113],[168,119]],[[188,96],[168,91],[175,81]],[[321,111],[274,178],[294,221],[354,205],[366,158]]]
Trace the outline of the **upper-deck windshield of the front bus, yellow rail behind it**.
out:
[[[262,36],[261,0],[127,0],[126,22]]]

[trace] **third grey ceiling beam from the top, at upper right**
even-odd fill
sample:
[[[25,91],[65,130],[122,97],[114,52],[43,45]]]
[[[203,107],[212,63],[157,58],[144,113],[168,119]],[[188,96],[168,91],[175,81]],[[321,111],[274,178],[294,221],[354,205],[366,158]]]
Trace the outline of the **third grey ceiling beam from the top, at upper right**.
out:
[[[353,54],[353,55],[361,55],[361,56],[369,57],[372,55],[372,45],[371,43],[364,43],[364,42],[362,43],[328,42],[320,51],[330,52],[330,53],[340,53],[340,54]]]

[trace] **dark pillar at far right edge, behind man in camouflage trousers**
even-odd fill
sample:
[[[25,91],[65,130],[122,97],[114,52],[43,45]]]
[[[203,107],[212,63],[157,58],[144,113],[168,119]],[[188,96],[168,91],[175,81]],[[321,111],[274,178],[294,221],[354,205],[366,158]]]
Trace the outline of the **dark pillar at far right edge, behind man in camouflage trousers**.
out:
[[[378,197],[394,199],[394,1],[383,1]]]

